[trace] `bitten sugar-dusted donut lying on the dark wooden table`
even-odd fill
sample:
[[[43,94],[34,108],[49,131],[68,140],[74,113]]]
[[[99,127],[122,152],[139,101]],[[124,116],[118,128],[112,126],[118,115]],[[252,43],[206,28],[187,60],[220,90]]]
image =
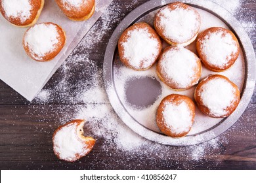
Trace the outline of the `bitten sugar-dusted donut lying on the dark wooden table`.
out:
[[[83,120],[73,120],[53,133],[53,151],[58,159],[76,161],[91,152],[95,139],[83,136]]]

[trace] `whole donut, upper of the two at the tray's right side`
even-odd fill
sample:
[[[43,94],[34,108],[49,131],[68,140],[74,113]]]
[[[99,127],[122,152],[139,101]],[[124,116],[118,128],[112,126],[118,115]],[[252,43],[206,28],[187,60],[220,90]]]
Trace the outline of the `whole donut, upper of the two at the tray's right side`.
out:
[[[211,27],[198,35],[196,50],[207,69],[221,72],[230,68],[238,58],[239,43],[228,29]]]

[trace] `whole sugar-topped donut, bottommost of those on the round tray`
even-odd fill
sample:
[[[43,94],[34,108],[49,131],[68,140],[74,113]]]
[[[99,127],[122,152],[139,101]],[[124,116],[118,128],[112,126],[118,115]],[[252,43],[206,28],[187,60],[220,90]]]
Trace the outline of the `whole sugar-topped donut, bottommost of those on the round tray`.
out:
[[[161,101],[156,114],[156,124],[165,135],[183,137],[190,131],[195,114],[196,107],[190,98],[171,94]]]

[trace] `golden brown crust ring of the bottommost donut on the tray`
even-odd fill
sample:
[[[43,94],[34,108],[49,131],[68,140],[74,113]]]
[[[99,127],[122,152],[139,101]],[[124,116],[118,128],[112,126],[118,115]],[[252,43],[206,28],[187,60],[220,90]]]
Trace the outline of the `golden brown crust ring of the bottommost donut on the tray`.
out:
[[[184,131],[182,133],[175,133],[175,131],[171,131],[171,129],[167,126],[164,118],[163,118],[163,110],[165,108],[165,103],[173,103],[174,105],[179,105],[182,102],[185,102],[188,105],[188,108],[190,110],[190,114],[192,116],[191,125],[188,131]],[[163,98],[161,101],[158,110],[156,112],[156,124],[160,128],[161,132],[163,132],[165,135],[169,137],[184,137],[188,132],[190,131],[192,124],[194,122],[194,118],[196,115],[196,106],[194,105],[194,102],[185,95],[178,95],[178,94],[171,94],[167,95],[167,97]]]

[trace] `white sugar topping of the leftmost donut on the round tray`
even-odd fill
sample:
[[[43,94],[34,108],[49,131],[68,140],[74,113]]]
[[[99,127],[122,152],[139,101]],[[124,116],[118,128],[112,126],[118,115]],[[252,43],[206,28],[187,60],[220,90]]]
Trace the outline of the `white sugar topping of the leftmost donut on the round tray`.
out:
[[[121,42],[123,57],[136,69],[150,67],[159,53],[158,40],[148,28],[128,31],[127,36],[127,41]]]

